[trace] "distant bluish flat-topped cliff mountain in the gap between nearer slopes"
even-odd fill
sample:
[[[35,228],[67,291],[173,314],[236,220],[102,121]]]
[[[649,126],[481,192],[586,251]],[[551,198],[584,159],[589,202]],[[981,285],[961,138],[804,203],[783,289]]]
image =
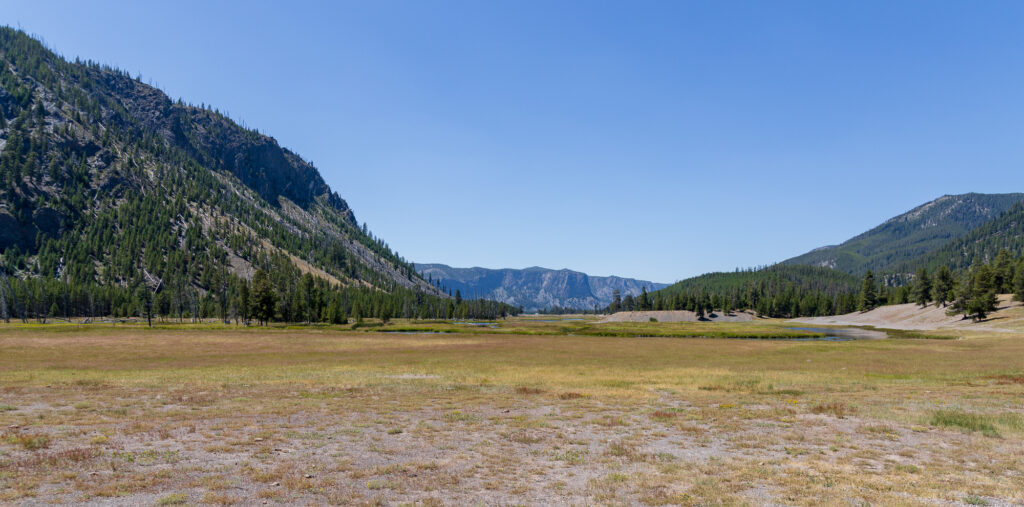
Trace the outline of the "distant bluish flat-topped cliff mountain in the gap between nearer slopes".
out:
[[[570,269],[487,269],[452,267],[444,264],[416,264],[424,278],[459,291],[463,297],[482,297],[521,306],[526,311],[553,308],[593,309],[607,306],[614,291],[622,296],[639,295],[646,287],[655,291],[668,284],[620,277],[591,277]]]

